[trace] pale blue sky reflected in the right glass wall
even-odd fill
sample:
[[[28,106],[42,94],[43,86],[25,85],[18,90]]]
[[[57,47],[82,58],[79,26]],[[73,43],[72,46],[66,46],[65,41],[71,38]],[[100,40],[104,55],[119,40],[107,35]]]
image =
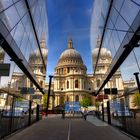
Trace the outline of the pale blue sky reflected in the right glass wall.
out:
[[[135,2],[139,4],[139,1]],[[96,40],[98,36],[101,36],[103,31],[104,16],[102,16],[102,14],[104,13],[105,15],[107,12],[107,3],[107,0],[94,1],[90,31],[92,49],[96,47]],[[113,57],[115,56],[116,51],[120,47],[123,38],[125,37],[138,12],[140,12],[140,6],[131,0],[114,1],[102,45],[102,47],[106,47],[111,51]],[[133,33],[133,29],[130,31]],[[140,65],[140,49],[136,48],[134,49],[134,52],[131,52],[120,67],[124,80],[134,78],[133,73],[140,72],[138,68]],[[138,65],[136,61],[138,61]]]

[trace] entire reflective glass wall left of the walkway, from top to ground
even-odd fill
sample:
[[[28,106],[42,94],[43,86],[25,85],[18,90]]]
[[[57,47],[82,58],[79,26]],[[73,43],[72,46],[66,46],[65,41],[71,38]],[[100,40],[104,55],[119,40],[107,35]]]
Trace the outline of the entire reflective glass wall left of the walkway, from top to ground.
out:
[[[47,40],[44,0],[0,0],[0,138],[39,119]]]

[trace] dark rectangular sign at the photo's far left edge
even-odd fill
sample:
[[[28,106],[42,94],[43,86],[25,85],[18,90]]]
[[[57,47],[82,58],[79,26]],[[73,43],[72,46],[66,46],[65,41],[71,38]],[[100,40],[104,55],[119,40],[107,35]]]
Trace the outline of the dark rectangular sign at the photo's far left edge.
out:
[[[10,64],[0,64],[0,76],[9,76]]]

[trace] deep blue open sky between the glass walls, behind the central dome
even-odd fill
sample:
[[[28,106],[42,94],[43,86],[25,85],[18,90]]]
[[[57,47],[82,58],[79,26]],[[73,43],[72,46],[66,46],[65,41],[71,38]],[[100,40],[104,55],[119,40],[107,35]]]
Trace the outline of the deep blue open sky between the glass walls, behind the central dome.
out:
[[[90,49],[93,0],[46,0],[46,4],[49,29],[47,77],[53,75],[61,53],[67,48],[69,36],[87,66],[87,73],[93,73]]]

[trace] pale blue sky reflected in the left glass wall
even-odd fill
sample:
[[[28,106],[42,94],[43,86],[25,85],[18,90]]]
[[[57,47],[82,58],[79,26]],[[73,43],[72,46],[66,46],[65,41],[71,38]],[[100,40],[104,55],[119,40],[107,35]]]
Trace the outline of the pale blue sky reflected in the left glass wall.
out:
[[[28,2],[31,7],[32,16],[39,42],[42,39],[42,35],[44,35],[47,40],[48,27],[46,20],[47,15],[45,1],[39,0],[38,2],[37,1],[31,2],[29,0]],[[33,10],[35,9],[34,7],[36,7],[38,11]],[[34,19],[34,17],[36,17],[36,19]],[[28,10],[25,5],[25,1],[1,0],[0,19],[6,25],[7,30],[10,33],[5,36],[6,39],[9,38],[9,36],[12,36],[13,40],[11,40],[9,43],[13,44],[15,42],[14,45],[17,46],[16,52],[18,53],[20,49],[20,51],[23,54],[22,57],[24,57],[25,60],[28,61],[30,54],[33,53],[36,49],[38,49],[38,45],[36,42]],[[9,77],[1,77],[0,82],[2,86],[6,86],[8,82],[11,81],[11,76],[14,72],[22,73],[22,71],[13,61],[11,61],[11,58],[7,54],[5,55],[4,63],[11,63],[11,68]],[[25,62],[25,66],[26,64],[27,62]]]

